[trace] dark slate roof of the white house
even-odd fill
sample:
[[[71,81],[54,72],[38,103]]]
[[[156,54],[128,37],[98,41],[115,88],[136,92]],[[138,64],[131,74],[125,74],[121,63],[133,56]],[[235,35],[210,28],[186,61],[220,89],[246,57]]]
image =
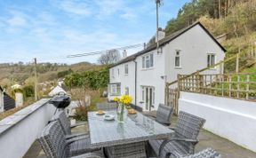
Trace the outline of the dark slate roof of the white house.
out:
[[[212,38],[213,42],[217,43],[220,46],[221,50],[226,51],[226,49],[212,36],[212,34],[206,28],[204,28],[204,26],[199,21],[195,22],[194,24],[192,24],[186,28],[182,28],[179,31],[172,33],[170,36],[166,36],[164,39],[159,41],[159,47],[164,46],[166,43],[170,43],[172,40],[174,40],[178,36],[181,36],[183,33],[187,32],[190,28],[194,28],[196,25],[199,25],[201,28],[203,28],[204,31],[206,32],[206,34]],[[119,62],[114,64],[112,67],[116,67],[116,66],[118,66],[120,64],[124,64],[125,62],[128,62],[128,61],[132,61],[132,60],[136,59],[136,57],[138,57],[142,54],[145,54],[149,51],[153,51],[155,49],[156,49],[156,43],[153,43],[153,44],[149,45],[146,49],[139,51],[135,54],[132,54],[131,56],[128,56],[125,59],[121,59]]]

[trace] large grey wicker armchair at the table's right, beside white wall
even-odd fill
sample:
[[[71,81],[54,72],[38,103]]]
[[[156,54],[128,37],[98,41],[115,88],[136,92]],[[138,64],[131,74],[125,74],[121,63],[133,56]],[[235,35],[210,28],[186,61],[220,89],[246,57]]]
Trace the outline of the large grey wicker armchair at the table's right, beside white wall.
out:
[[[180,111],[173,138],[168,140],[149,140],[149,145],[160,157],[182,157],[194,154],[196,139],[205,120]]]

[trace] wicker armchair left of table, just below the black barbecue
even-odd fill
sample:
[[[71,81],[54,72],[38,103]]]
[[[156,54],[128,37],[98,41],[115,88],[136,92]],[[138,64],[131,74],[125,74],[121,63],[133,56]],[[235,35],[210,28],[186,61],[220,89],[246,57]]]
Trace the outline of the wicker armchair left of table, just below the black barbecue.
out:
[[[69,141],[73,141],[73,140],[76,140],[76,139],[81,139],[81,138],[89,138],[89,134],[86,133],[86,132],[82,132],[82,133],[76,133],[76,134],[73,134],[71,132],[71,129],[72,128],[75,128],[77,126],[81,126],[81,125],[84,125],[86,124],[85,122],[82,122],[82,123],[77,123],[75,125],[71,125],[70,124],[70,121],[68,119],[68,116],[65,114],[64,111],[60,111],[58,113],[56,113],[53,118],[52,118],[52,121],[59,121],[60,122],[60,125],[62,127],[62,129],[64,130],[64,133],[65,133],[65,137],[67,139],[69,139]]]

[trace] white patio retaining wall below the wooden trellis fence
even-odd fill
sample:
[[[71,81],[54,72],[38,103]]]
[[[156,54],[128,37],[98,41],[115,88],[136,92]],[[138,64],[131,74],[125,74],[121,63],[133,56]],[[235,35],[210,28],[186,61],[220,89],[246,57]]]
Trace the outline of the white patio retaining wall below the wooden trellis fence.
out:
[[[256,152],[256,102],[182,91],[179,110],[203,117],[205,130]]]

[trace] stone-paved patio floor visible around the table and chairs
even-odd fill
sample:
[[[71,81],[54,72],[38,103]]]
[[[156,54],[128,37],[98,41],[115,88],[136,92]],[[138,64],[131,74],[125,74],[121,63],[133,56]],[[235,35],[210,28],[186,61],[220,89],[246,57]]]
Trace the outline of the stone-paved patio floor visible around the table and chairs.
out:
[[[151,112],[150,114],[155,115],[156,112]],[[175,125],[177,121],[176,116],[172,116],[172,125]],[[88,126],[80,126],[76,127],[74,132],[82,132],[88,131]],[[196,145],[196,152],[201,151],[204,148],[212,147],[218,153],[222,155],[222,157],[227,158],[253,158],[256,157],[256,154],[250,150],[245,149],[242,146],[237,146],[233,142],[229,141],[225,138],[220,138],[217,135],[212,134],[207,130],[201,130],[199,133],[199,143]],[[44,158],[44,151],[39,145],[38,141],[34,142],[34,144],[28,150],[28,153],[25,154],[24,158]]]

